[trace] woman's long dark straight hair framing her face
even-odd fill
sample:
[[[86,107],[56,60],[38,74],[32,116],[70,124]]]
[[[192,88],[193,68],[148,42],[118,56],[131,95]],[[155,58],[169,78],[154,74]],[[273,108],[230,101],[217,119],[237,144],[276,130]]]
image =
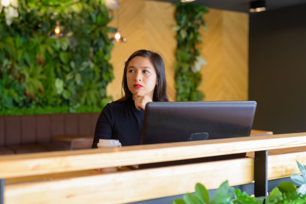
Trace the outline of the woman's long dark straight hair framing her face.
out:
[[[131,54],[129,59],[125,62],[124,73],[122,78],[122,89],[124,90],[125,95],[118,101],[132,100],[132,93],[128,88],[128,82],[127,82],[127,68],[129,62],[134,57],[137,56],[148,58],[155,68],[157,84],[154,88],[153,102],[168,102],[169,100],[167,95],[167,82],[166,82],[164,61],[159,54],[149,50],[138,50],[133,54]]]

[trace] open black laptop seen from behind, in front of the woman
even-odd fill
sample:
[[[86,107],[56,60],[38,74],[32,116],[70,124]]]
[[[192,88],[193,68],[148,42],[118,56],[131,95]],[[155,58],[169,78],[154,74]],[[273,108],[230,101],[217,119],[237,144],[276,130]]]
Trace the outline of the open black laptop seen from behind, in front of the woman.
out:
[[[145,109],[141,144],[249,137],[256,106],[255,101],[150,102]],[[140,164],[138,168],[242,157],[245,153],[193,161]],[[137,168],[137,165],[134,167]]]

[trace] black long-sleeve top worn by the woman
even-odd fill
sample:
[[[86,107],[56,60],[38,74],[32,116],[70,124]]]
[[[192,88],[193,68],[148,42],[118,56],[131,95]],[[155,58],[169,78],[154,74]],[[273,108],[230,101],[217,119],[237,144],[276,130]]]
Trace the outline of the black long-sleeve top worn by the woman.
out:
[[[99,139],[116,139],[122,146],[140,144],[144,110],[138,110],[132,100],[108,103],[96,123],[91,148]]]

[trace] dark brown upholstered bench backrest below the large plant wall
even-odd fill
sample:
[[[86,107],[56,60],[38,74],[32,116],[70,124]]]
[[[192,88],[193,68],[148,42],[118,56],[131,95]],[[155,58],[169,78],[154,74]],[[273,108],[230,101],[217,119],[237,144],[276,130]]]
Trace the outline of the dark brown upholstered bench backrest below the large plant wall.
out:
[[[0,145],[48,143],[52,135],[94,135],[99,114],[0,116]]]

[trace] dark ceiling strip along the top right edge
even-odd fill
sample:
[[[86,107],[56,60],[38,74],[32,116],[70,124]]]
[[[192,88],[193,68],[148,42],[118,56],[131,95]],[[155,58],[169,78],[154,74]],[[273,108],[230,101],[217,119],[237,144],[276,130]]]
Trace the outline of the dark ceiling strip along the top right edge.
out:
[[[176,2],[179,0],[159,0],[166,2]],[[222,10],[238,11],[249,13],[249,5],[251,0],[196,0],[194,3],[204,4],[208,8],[216,8]],[[295,6],[299,4],[306,4],[306,0],[266,0],[266,9],[274,10]]]

